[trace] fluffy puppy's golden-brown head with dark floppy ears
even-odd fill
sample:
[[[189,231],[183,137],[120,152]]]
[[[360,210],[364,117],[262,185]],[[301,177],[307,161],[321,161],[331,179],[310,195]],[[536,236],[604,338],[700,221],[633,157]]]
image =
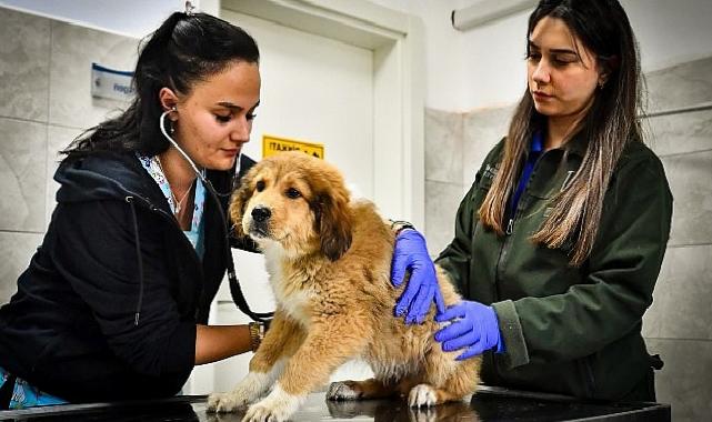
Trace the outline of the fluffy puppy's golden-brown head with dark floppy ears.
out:
[[[292,258],[323,252],[337,260],[351,244],[349,193],[341,174],[302,152],[255,164],[230,204],[238,234],[262,248],[279,243]]]

